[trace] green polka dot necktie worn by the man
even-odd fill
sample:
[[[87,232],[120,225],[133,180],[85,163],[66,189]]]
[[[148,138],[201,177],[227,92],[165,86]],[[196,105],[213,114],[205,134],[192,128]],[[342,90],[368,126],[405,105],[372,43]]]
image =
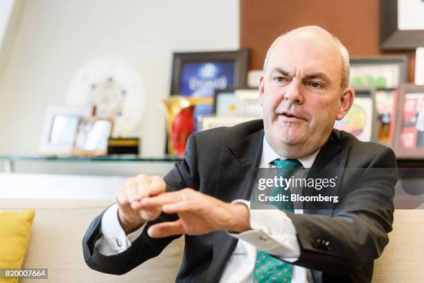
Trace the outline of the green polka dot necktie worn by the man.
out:
[[[299,160],[276,159],[270,164],[276,166],[277,175],[283,178],[290,178],[290,175],[302,166]],[[290,200],[290,189],[285,190],[284,187],[276,188],[272,191],[272,195],[277,194],[288,196],[288,201],[272,203],[272,205],[288,213],[294,212],[293,203]],[[254,283],[261,282],[292,282],[292,265],[268,255],[263,250],[259,250],[254,269]]]

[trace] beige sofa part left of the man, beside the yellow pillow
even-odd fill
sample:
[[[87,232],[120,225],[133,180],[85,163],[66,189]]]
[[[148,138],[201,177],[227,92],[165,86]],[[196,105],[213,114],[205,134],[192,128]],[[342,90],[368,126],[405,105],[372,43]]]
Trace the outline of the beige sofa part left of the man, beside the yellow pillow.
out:
[[[43,282],[175,282],[184,237],[125,275],[99,273],[85,264],[82,237],[89,223],[112,203],[112,200],[0,199],[1,209],[33,208],[37,212],[24,268],[48,268],[48,280]]]

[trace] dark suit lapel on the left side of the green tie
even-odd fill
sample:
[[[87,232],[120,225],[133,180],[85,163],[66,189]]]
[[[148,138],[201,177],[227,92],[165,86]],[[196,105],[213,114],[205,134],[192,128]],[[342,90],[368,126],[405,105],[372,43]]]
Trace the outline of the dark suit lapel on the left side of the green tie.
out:
[[[233,144],[221,145],[215,198],[227,203],[236,199],[249,200],[262,155],[262,144],[263,130],[259,130]],[[213,232],[213,259],[206,282],[219,282],[236,243],[237,239],[227,232]]]

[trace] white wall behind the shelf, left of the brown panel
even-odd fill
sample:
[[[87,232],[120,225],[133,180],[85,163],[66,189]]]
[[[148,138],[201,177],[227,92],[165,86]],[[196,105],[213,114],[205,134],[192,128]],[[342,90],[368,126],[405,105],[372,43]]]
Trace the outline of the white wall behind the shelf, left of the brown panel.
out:
[[[79,67],[103,55],[123,57],[148,96],[143,154],[164,151],[164,113],[173,51],[239,48],[238,0],[26,0],[0,78],[0,154],[37,153],[47,105],[66,99]]]

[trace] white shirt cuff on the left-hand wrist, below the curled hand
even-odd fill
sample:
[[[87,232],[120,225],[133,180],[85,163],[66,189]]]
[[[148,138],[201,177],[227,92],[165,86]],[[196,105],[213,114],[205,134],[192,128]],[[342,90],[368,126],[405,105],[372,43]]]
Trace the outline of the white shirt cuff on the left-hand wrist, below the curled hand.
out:
[[[103,214],[101,229],[103,237],[95,245],[98,252],[102,255],[117,255],[130,248],[131,244],[140,237],[144,225],[130,234],[125,234],[119,223],[118,205],[115,203]]]

